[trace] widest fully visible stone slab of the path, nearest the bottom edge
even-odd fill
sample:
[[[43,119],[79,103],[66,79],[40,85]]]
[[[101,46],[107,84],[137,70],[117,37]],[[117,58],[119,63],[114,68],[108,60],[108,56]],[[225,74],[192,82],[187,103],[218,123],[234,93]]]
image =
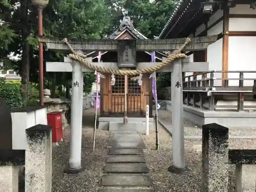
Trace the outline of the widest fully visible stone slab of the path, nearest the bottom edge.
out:
[[[152,186],[152,179],[148,175],[111,174],[101,179],[102,186]]]

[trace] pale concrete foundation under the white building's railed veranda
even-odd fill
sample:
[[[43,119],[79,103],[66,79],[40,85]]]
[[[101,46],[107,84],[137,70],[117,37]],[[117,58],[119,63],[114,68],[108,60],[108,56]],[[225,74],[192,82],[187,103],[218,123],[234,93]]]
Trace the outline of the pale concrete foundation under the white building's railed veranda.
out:
[[[165,102],[162,109],[172,112],[172,102]],[[256,129],[256,112],[208,111],[187,105],[183,107],[184,118],[200,127],[203,124],[217,123],[229,129]]]

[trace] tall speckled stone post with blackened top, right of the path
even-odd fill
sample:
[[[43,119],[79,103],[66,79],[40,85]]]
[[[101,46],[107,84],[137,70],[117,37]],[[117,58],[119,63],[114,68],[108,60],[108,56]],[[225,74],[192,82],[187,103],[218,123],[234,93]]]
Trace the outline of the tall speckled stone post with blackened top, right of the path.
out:
[[[202,191],[228,191],[228,128],[216,123],[203,125]]]

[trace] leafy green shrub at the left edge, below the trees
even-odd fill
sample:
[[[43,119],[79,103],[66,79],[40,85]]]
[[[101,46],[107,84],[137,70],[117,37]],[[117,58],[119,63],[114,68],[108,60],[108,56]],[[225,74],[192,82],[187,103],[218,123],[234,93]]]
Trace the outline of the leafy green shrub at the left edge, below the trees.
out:
[[[0,78],[0,97],[2,97],[10,109],[23,105],[20,83],[6,82]]]

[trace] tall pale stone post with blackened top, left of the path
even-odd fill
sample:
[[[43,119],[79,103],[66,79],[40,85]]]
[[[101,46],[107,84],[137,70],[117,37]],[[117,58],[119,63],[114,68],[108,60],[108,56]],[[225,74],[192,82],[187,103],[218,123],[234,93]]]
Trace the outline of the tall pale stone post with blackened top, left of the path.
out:
[[[26,192],[51,192],[52,128],[37,124],[26,130]]]

